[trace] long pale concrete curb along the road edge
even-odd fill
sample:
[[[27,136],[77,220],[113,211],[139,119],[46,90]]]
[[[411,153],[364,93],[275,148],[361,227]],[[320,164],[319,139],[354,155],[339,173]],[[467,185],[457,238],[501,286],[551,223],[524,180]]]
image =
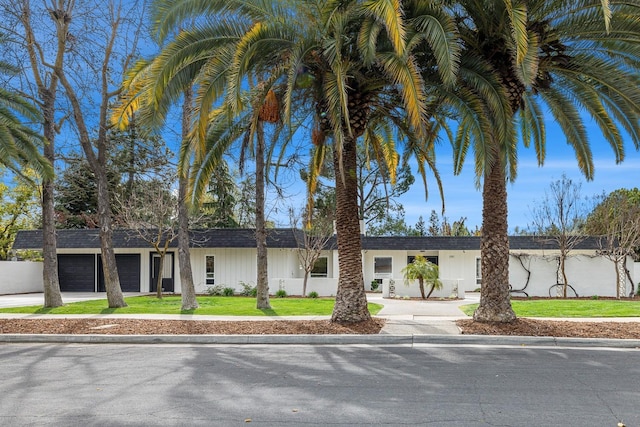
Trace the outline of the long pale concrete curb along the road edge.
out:
[[[488,345],[636,348],[640,340],[502,335],[55,335],[0,334],[0,343],[44,344],[270,344],[270,345]]]

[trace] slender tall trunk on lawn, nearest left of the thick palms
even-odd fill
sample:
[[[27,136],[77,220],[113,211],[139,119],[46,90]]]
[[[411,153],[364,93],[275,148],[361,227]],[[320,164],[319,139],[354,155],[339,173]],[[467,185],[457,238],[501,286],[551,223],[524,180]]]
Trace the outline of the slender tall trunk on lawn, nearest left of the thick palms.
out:
[[[264,218],[264,127],[258,121],[256,129],[256,250],[257,256],[257,295],[256,307],[270,309],[269,276],[267,269],[267,227]]]

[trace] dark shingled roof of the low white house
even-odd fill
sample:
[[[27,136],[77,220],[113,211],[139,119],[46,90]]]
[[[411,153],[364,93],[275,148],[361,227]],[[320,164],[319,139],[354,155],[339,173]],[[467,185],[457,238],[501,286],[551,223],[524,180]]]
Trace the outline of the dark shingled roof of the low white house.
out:
[[[301,233],[299,230],[297,233]],[[58,248],[65,249],[97,249],[100,248],[100,230],[56,230]],[[298,246],[294,231],[289,228],[268,230],[267,246],[270,248],[295,248]],[[193,248],[255,248],[256,241],[253,229],[216,228],[191,230],[191,247]],[[303,242],[302,238],[298,239]],[[302,243],[301,243],[302,244]],[[133,230],[114,230],[113,246],[115,248],[148,248],[149,244],[141,239]],[[177,246],[177,239],[171,243]],[[335,238],[328,243],[328,248],[335,248]],[[509,237],[511,250],[554,249],[557,244],[534,236]],[[599,249],[599,238],[589,237],[581,241],[575,249]],[[42,230],[18,231],[13,249],[41,249]],[[362,249],[369,250],[479,250],[480,237],[362,237]]]

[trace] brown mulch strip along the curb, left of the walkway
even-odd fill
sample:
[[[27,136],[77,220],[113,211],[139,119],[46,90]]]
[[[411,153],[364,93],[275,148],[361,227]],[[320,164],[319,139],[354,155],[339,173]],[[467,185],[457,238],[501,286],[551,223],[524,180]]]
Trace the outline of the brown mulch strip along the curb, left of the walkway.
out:
[[[378,334],[385,319],[339,325],[329,320],[0,319],[0,334],[268,335]]]

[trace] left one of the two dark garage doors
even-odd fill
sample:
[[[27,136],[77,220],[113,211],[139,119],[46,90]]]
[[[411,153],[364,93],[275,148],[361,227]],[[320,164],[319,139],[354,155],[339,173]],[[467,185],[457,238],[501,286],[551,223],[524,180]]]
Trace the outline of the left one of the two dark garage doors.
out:
[[[96,291],[96,256],[93,254],[58,255],[58,280],[63,292]]]

